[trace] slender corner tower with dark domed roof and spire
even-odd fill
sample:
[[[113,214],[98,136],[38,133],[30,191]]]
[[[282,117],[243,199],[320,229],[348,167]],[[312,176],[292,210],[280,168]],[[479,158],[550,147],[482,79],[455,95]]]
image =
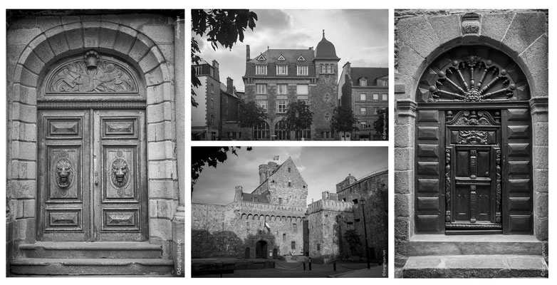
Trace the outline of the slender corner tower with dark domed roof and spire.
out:
[[[330,133],[330,119],[338,105],[338,61],[333,43],[323,38],[318,43],[313,63],[316,66],[316,88],[309,94],[310,110],[313,112],[312,132],[316,138],[333,139]]]

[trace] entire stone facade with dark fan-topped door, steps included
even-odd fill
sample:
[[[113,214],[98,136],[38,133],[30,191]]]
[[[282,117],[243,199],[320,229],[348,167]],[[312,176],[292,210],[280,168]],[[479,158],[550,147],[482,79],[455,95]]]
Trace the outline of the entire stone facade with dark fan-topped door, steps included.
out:
[[[395,11],[396,276],[546,276],[547,19]]]

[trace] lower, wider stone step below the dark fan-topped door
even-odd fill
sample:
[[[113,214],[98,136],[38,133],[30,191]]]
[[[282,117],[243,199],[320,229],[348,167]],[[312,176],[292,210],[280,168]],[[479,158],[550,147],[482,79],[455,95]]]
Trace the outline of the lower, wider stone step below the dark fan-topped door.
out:
[[[542,257],[532,255],[444,255],[409,257],[402,278],[547,277]]]

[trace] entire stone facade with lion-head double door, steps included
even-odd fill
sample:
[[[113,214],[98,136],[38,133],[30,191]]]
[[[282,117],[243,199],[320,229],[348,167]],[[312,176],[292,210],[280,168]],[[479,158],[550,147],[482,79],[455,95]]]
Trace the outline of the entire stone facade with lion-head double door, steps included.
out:
[[[184,10],[7,16],[6,274],[183,276]]]

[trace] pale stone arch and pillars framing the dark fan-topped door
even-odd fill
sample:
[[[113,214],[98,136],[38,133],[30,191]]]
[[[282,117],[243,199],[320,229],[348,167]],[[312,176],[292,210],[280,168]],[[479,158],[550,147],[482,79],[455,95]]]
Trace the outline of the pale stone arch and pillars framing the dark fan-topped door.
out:
[[[548,33],[540,11],[465,14],[395,11],[395,264],[405,263],[415,234],[416,90],[427,66],[457,46],[506,53],[528,80],[531,99],[533,233],[548,240]],[[427,12],[427,13],[426,13]],[[417,16],[416,16],[417,15]]]

